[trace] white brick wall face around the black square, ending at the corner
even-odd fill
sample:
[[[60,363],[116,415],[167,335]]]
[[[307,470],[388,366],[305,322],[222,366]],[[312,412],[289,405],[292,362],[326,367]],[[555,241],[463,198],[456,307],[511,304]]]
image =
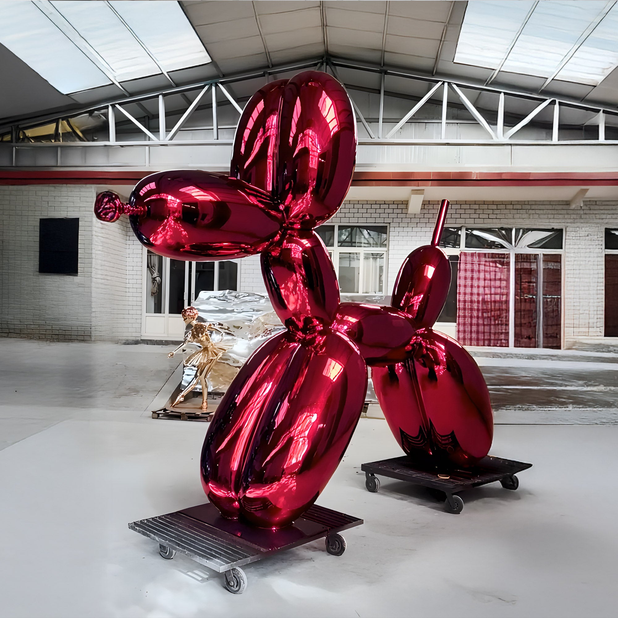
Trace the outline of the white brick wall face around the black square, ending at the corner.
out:
[[[0,334],[38,339],[91,338],[92,187],[0,187]],[[78,217],[78,274],[38,272],[39,219]]]

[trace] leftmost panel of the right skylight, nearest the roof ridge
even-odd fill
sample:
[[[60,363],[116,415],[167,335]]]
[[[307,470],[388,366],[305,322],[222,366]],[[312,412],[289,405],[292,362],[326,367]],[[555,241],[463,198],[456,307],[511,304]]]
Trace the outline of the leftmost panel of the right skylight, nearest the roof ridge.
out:
[[[455,62],[496,69],[534,2],[468,2],[455,51]]]

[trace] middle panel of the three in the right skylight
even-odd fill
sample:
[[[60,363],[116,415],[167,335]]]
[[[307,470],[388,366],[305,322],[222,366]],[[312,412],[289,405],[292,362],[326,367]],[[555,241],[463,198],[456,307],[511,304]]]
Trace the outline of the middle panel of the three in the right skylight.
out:
[[[605,0],[539,2],[502,70],[549,77],[606,4]]]

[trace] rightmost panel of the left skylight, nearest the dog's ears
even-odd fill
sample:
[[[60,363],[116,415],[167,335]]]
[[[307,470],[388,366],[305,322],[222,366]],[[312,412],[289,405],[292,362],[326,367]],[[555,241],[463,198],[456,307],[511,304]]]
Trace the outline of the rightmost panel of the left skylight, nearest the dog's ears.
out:
[[[211,62],[200,37],[193,30],[178,2],[116,0],[110,4],[146,44],[163,70],[173,71]],[[165,25],[165,34],[161,33]]]

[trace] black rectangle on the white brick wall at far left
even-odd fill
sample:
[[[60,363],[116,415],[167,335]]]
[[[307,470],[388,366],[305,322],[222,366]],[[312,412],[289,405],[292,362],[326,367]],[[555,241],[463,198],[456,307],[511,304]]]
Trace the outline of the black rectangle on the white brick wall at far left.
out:
[[[77,274],[79,219],[39,219],[39,273]]]

